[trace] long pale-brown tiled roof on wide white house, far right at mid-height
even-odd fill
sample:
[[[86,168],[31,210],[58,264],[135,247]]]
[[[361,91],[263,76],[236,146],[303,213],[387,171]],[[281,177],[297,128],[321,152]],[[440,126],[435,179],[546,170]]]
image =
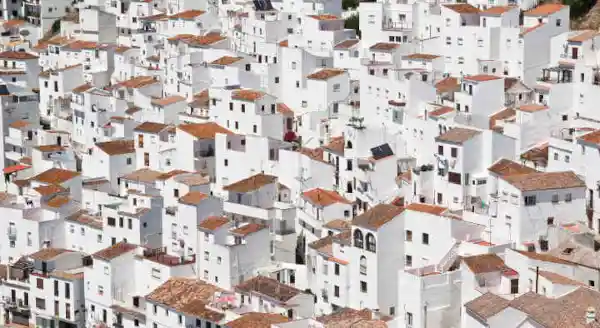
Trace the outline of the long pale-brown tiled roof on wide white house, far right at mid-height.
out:
[[[502,179],[522,192],[585,188],[585,182],[572,171],[518,174],[505,176]]]

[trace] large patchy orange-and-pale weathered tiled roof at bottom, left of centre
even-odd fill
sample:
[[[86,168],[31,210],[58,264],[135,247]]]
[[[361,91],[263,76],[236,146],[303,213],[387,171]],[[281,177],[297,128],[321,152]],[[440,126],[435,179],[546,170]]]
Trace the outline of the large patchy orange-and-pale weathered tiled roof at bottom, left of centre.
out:
[[[148,294],[146,300],[192,317],[219,322],[225,315],[208,309],[206,305],[215,293],[221,291],[219,287],[196,278],[174,277]]]

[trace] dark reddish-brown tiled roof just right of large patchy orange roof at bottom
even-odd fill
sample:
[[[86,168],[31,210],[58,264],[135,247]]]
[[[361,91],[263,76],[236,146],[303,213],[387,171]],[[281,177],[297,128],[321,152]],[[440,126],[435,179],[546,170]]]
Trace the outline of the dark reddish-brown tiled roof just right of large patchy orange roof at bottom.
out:
[[[303,292],[297,288],[265,276],[256,276],[248,279],[234,288],[240,293],[258,293],[283,303],[303,294]]]

